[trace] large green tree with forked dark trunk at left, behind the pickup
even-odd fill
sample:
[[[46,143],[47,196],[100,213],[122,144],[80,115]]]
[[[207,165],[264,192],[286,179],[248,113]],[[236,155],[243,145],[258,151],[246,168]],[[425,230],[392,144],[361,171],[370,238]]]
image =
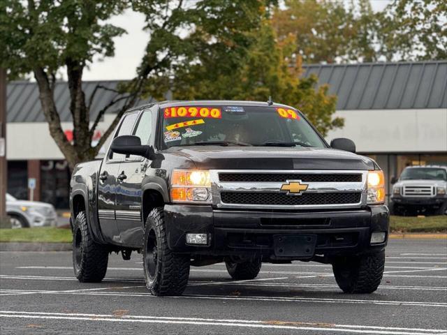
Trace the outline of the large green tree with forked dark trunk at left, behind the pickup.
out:
[[[8,68],[10,77],[33,73],[50,134],[73,169],[76,163],[96,156],[124,111],[142,94],[160,98],[169,87],[173,71],[195,61],[200,47],[213,47],[223,54],[242,54],[249,43],[246,32],[258,27],[264,3],[262,0],[199,0],[192,5],[183,0],[0,1],[0,66]],[[105,88],[98,86],[87,97],[82,89],[83,71],[94,57],[113,56],[113,38],[125,31],[105,22],[129,7],[145,14],[145,29],[149,33],[145,55],[135,78],[120,85],[115,97],[92,119],[91,105]],[[184,31],[191,34],[183,36]],[[54,103],[56,74],[63,68],[71,98],[73,143],[62,131]],[[96,147],[92,147],[96,126],[107,110],[115,112],[116,117]]]

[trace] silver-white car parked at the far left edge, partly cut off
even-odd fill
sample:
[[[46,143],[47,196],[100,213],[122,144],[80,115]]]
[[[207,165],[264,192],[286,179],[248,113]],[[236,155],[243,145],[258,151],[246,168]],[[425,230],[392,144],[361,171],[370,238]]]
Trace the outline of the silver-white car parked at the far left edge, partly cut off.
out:
[[[52,204],[17,200],[6,194],[6,213],[12,228],[32,228],[56,225],[57,214]]]

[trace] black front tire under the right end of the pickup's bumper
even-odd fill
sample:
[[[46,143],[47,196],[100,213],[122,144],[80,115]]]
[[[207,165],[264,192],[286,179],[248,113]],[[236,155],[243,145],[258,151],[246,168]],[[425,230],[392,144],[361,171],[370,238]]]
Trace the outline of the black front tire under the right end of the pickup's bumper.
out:
[[[345,293],[372,293],[379,287],[385,267],[385,251],[335,260],[335,280]]]

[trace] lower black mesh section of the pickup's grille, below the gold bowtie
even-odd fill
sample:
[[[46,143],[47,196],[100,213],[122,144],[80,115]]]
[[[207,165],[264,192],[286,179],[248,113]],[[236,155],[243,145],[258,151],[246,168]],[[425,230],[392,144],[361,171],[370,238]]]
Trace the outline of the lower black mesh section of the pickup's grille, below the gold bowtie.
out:
[[[349,193],[304,193],[287,195],[286,193],[240,193],[223,192],[221,200],[226,204],[273,204],[284,206],[310,204],[356,204],[360,202],[360,192]]]

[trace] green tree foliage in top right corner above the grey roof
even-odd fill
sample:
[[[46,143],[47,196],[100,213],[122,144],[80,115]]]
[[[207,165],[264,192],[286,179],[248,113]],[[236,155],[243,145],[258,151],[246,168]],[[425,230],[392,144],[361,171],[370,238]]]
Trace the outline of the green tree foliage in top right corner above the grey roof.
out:
[[[447,59],[447,2],[394,0],[379,15],[381,50],[388,60]]]

